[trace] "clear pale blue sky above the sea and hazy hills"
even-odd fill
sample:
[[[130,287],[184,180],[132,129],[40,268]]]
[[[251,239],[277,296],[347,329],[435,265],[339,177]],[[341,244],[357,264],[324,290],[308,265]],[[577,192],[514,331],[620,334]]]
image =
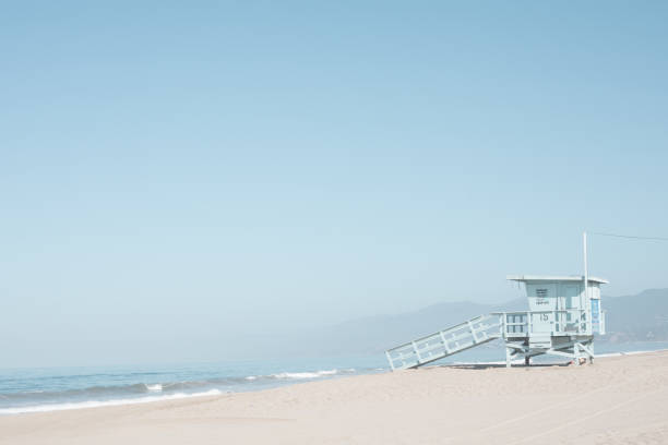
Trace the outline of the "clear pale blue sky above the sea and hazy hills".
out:
[[[1,8],[1,365],[211,359],[668,236],[666,2],[136,3]],[[591,258],[668,287],[668,243]]]

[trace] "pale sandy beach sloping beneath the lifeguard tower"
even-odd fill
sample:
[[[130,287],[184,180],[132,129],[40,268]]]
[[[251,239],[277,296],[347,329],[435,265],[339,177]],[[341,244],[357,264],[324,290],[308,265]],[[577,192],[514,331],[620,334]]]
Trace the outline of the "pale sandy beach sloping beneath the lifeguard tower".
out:
[[[665,444],[668,352],[0,418],[1,444]]]

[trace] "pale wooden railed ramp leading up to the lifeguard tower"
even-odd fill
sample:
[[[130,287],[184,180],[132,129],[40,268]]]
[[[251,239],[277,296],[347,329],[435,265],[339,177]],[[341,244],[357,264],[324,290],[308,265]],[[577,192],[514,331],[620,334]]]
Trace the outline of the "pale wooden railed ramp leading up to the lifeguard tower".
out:
[[[501,338],[502,314],[476,316],[385,351],[392,370],[406,370]]]

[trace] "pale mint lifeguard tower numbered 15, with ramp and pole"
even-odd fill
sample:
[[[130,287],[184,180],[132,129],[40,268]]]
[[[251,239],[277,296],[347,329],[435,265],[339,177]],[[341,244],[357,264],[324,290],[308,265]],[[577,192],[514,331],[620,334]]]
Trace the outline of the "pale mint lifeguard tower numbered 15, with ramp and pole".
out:
[[[502,338],[505,365],[524,357],[552,354],[594,360],[594,336],[605,334],[600,285],[605,279],[584,276],[510,275],[526,291],[528,311],[494,312],[418,338],[385,351],[392,370],[418,368],[466,349]]]

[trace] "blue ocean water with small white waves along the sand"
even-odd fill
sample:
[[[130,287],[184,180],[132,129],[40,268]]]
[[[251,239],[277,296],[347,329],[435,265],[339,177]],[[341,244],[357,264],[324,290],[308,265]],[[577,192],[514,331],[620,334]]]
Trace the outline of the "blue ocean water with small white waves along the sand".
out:
[[[668,341],[596,345],[597,354],[660,349],[668,349]],[[502,362],[504,358],[501,345],[492,342],[434,364],[493,363]],[[560,361],[554,358],[544,360]],[[0,369],[0,414],[261,390],[302,382],[387,371],[387,363],[382,353],[369,357],[141,366]]]

